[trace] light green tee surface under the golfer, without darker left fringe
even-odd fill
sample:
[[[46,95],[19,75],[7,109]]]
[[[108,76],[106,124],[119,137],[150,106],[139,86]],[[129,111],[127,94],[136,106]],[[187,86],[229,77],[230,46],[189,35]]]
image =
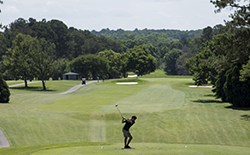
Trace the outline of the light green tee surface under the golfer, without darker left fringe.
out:
[[[190,144],[158,144],[133,143],[133,149],[122,149],[123,144],[108,146],[84,146],[48,149],[32,153],[31,155],[110,155],[110,154],[143,154],[143,155],[247,155],[250,148],[220,145],[190,145]]]

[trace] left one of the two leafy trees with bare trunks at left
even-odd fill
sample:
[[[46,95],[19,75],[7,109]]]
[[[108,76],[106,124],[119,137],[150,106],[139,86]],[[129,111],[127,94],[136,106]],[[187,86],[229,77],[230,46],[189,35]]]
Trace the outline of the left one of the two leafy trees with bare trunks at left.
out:
[[[25,88],[28,87],[27,80],[34,77],[33,57],[38,48],[38,42],[34,38],[19,33],[12,47],[3,56],[5,74],[16,79],[23,79]]]

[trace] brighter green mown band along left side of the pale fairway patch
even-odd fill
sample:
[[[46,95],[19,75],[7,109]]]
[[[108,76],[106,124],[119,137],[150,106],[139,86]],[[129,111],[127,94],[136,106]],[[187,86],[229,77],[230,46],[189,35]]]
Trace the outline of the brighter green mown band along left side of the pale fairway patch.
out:
[[[117,100],[128,97],[142,87],[124,87],[111,84],[111,86],[90,86],[94,91],[79,96],[72,96],[55,101],[51,105],[40,107],[41,110],[68,111],[68,112],[94,112],[105,105],[115,105]],[[84,88],[82,88],[84,89]]]

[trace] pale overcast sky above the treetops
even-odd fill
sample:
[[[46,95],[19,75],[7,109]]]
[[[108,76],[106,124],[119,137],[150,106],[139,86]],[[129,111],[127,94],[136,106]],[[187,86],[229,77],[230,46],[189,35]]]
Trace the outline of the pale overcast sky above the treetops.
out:
[[[210,0],[3,0],[0,23],[18,18],[57,19],[68,27],[100,31],[197,30],[224,24],[230,10],[214,13]]]

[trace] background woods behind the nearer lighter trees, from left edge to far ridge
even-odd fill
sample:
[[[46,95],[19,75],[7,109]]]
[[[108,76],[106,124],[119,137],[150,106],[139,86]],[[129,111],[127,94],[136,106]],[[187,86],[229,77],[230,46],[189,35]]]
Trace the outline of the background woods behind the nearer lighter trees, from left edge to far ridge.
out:
[[[44,38],[49,43],[54,43],[54,59],[59,64],[59,72],[62,77],[67,69],[68,63],[81,55],[94,54],[104,50],[112,50],[117,54],[128,52],[136,46],[144,46],[156,59],[156,68],[164,69],[168,75],[190,75],[189,70],[184,67],[185,61],[198,52],[203,42],[211,40],[213,34],[227,31],[226,26],[216,25],[214,28],[207,27],[201,31],[167,31],[167,30],[135,30],[135,33],[126,33],[124,30],[112,31],[113,36],[95,35],[88,30],[79,30],[74,27],[68,28],[59,20],[36,21],[33,18],[25,20],[19,18],[5,27],[1,33],[0,44],[0,71],[5,72],[2,56],[12,47],[13,40],[17,34],[29,35],[33,38]],[[121,33],[120,31],[124,32]],[[100,31],[100,34],[102,34]],[[109,32],[109,31],[108,31]],[[140,33],[139,33],[140,32]],[[160,33],[162,32],[162,33]],[[166,33],[175,33],[194,38],[182,37],[180,40],[173,39]],[[97,33],[97,32],[96,32]],[[117,33],[117,34],[116,34]],[[179,34],[180,33],[180,34]],[[194,35],[195,34],[195,35]],[[142,74],[142,73],[141,73]],[[109,74],[108,77],[111,77]]]

